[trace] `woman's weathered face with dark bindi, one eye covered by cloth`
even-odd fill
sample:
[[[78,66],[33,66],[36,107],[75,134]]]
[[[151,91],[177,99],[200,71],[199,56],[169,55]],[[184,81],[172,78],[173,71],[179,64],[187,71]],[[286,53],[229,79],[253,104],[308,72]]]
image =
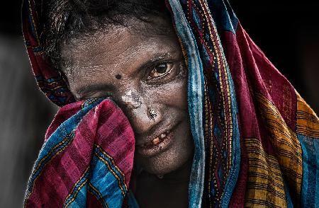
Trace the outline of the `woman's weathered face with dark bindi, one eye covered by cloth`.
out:
[[[192,159],[187,70],[168,21],[108,26],[72,40],[62,58],[78,100],[111,96],[125,112],[135,132],[135,163],[163,175]]]

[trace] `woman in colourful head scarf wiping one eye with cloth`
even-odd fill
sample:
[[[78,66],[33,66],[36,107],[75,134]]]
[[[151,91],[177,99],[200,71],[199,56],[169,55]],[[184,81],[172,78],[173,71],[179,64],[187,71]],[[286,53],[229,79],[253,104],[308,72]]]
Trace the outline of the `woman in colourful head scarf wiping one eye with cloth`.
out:
[[[318,117],[228,2],[30,0],[23,20],[63,106],[26,207],[315,207]]]

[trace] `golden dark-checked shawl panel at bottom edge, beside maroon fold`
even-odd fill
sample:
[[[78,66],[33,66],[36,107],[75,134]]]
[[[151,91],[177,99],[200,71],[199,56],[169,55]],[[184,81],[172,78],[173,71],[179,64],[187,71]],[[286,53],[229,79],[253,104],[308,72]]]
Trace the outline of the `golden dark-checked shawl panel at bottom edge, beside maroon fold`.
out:
[[[249,163],[245,207],[287,207],[279,162],[258,139],[244,141]]]

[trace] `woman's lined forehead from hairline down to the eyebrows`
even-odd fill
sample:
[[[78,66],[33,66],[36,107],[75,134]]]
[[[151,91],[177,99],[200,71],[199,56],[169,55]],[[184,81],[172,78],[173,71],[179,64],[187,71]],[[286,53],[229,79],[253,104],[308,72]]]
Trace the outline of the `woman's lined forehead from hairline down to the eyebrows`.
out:
[[[108,25],[71,40],[62,47],[62,59],[67,63],[66,74],[72,71],[74,76],[89,71],[92,75],[106,68],[134,69],[147,59],[177,50],[180,50],[179,43],[169,21],[130,19],[126,25]]]

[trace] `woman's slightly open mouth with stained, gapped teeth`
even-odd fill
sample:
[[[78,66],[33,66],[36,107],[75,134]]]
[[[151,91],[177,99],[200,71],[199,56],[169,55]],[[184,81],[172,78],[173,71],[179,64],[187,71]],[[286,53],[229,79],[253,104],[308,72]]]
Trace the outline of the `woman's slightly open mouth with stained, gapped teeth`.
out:
[[[172,129],[162,132],[157,137],[150,139],[150,141],[136,146],[136,151],[138,151],[138,154],[145,157],[152,157],[165,151],[172,143],[175,129],[176,127],[173,127]]]

